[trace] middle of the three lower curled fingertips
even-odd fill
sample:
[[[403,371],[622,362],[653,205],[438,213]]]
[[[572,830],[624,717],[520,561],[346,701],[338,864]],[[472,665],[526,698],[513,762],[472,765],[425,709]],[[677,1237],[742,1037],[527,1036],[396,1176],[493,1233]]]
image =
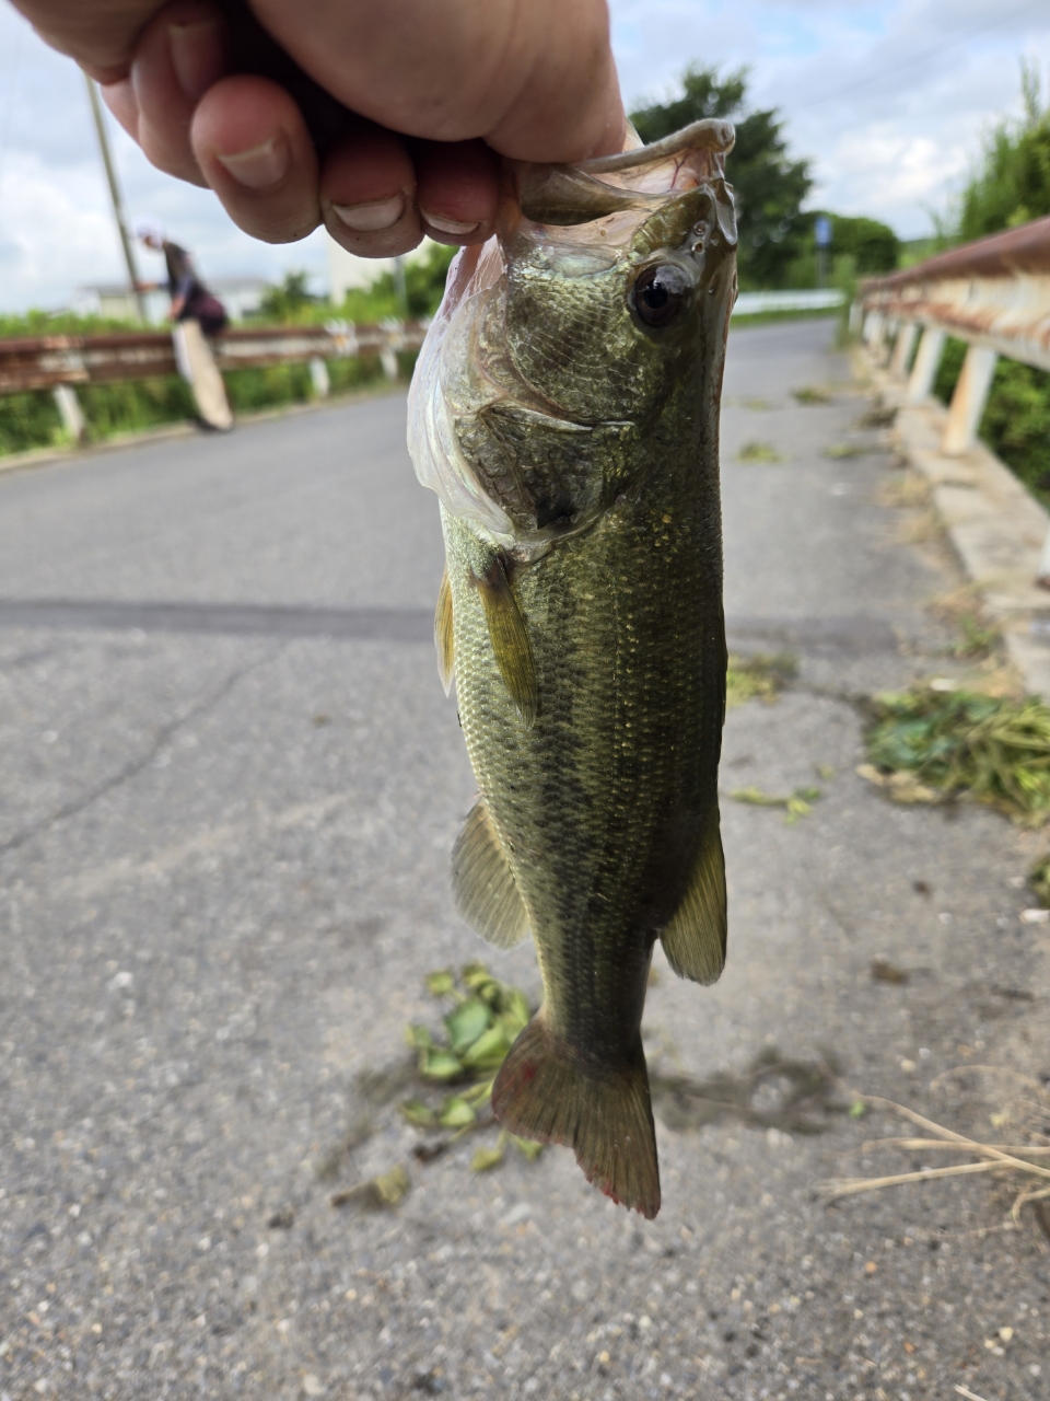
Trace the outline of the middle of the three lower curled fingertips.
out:
[[[329,151],[321,209],[335,241],[361,258],[396,258],[423,238],[412,158],[393,132],[371,122]]]

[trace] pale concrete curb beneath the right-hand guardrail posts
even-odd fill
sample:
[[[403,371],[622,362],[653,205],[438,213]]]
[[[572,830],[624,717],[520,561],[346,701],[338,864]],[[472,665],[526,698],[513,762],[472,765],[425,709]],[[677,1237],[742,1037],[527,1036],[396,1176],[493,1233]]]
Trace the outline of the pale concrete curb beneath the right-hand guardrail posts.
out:
[[[862,354],[867,377],[897,409],[895,446],[930,482],[948,538],[1001,630],[1025,689],[1050,699],[1050,593],[1035,583],[1050,514],[983,443],[958,455],[942,453],[944,405],[904,403],[906,384]]]

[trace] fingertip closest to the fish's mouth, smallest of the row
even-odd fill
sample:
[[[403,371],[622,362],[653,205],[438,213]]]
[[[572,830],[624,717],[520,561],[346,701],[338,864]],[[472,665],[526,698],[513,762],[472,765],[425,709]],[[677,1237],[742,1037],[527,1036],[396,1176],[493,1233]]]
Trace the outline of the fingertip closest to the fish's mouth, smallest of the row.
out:
[[[440,244],[480,244],[500,202],[500,163],[484,142],[413,142],[416,205]]]

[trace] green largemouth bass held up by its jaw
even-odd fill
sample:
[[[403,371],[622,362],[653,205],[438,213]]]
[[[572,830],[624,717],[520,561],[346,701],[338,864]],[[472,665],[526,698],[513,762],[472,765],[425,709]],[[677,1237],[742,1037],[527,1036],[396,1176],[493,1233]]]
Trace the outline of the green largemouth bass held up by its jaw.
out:
[[[445,542],[438,668],[479,789],[452,894],[497,948],[531,933],[543,979],[493,1111],[650,1219],[652,948],[700,984],[727,948],[732,140],[707,119],[578,165],[504,161],[496,234],[449,269],[409,398]]]

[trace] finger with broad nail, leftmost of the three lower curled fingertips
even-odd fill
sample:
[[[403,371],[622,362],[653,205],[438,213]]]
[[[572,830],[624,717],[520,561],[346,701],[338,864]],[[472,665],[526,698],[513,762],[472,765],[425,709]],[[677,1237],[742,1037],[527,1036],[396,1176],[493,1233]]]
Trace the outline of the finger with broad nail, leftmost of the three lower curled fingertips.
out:
[[[200,99],[190,144],[238,227],[267,244],[305,238],[321,223],[318,157],[302,113],[269,78],[223,78]]]

